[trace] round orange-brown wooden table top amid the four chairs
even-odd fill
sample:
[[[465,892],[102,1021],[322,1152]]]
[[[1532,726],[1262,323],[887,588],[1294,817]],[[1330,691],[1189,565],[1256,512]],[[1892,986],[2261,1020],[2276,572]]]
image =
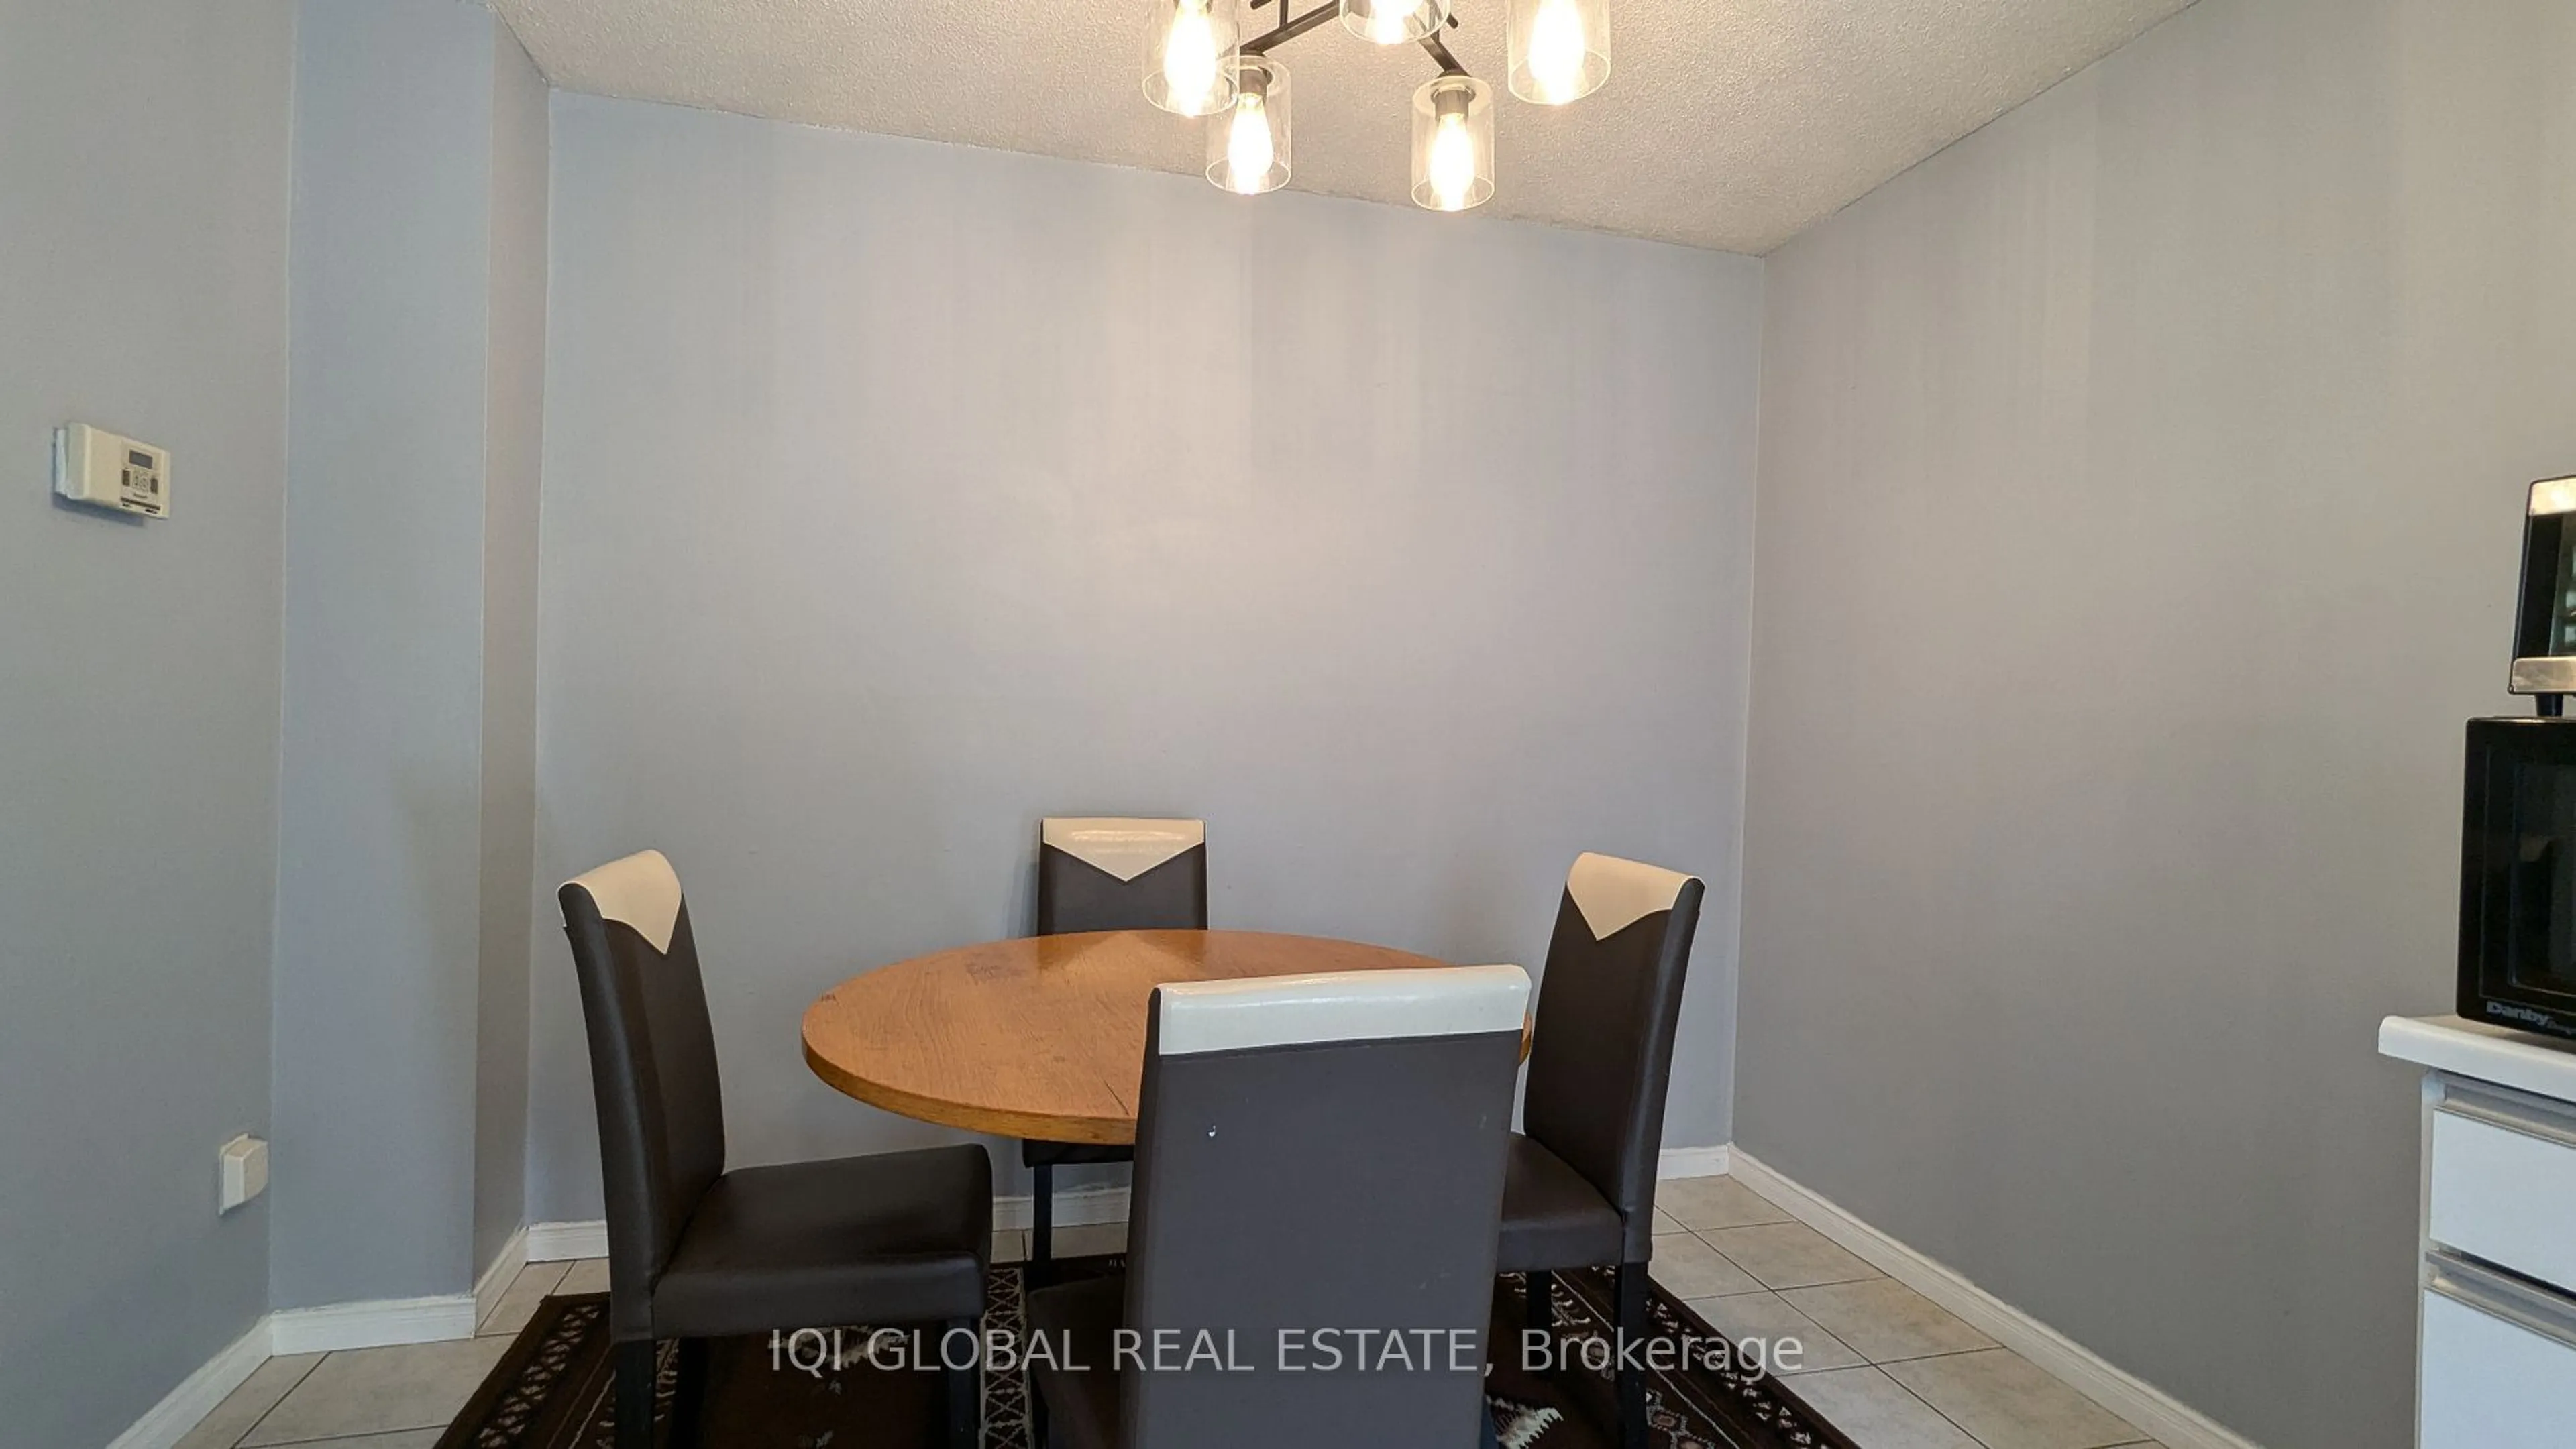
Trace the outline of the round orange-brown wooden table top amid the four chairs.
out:
[[[1133,1143],[1154,986],[1406,965],[1448,963],[1262,932],[987,942],[824,991],[804,1017],[806,1066],[922,1122],[1041,1143]]]

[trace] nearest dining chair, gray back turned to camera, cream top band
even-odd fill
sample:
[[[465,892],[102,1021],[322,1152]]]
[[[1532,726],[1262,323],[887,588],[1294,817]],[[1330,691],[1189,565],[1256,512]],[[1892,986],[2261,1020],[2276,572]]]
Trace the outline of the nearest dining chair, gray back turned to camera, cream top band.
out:
[[[1517,965],[1159,986],[1126,1269],[1028,1300],[1066,1349],[1030,1364],[1046,1449],[1484,1439],[1528,996]],[[1182,1351],[1118,1361],[1121,1328]],[[1370,1372],[1352,1367],[1360,1328]],[[1182,1361],[1203,1331],[1244,1372]],[[1404,1364],[1383,1331],[1404,1333]]]

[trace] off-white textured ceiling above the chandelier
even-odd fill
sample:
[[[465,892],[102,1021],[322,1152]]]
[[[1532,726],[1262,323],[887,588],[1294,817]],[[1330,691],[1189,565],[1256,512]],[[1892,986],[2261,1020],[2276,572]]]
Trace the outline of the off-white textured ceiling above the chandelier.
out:
[[[1610,85],[1566,108],[1499,103],[1486,211],[1770,252],[2187,3],[1610,0]],[[1206,160],[1203,121],[1139,90],[1144,0],[492,8],[567,90],[1193,175]],[[1499,82],[1504,0],[1455,10],[1450,49]],[[1247,8],[1247,33],[1273,15]],[[1291,185],[1401,203],[1430,57],[1337,23],[1278,54]]]

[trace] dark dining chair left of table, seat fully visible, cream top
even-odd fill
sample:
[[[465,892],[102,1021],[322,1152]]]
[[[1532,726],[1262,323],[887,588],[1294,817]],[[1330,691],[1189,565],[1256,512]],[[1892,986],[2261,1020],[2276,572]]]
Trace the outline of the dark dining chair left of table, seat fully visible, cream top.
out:
[[[659,1341],[677,1341],[670,1441],[683,1444],[708,1338],[850,1323],[974,1331],[992,1259],[984,1148],[726,1171],[716,1037],[670,860],[613,860],[559,901],[600,1114],[618,1449],[654,1441]],[[974,1449],[979,1374],[943,1372],[945,1441]]]

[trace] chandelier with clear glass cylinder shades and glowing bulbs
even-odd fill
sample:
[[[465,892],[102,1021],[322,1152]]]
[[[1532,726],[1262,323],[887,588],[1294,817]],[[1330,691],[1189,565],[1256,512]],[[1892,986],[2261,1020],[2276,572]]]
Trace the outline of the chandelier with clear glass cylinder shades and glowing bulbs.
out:
[[[1236,196],[1288,185],[1285,41],[1342,18],[1342,28],[1381,46],[1422,46],[1440,75],[1414,90],[1414,206],[1466,211],[1494,196],[1494,88],[1458,64],[1440,41],[1455,28],[1450,0],[1327,0],[1242,36],[1242,0],[1146,0],[1144,98],[1175,116],[1208,121],[1208,180]],[[1512,95],[1564,106],[1610,80],[1610,0],[1510,0]]]

